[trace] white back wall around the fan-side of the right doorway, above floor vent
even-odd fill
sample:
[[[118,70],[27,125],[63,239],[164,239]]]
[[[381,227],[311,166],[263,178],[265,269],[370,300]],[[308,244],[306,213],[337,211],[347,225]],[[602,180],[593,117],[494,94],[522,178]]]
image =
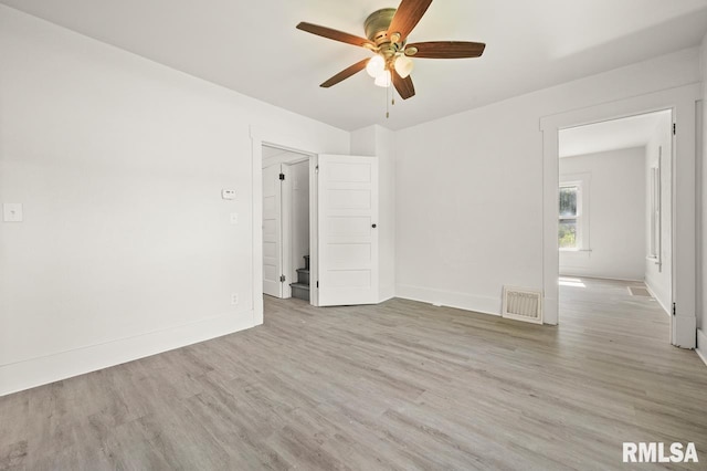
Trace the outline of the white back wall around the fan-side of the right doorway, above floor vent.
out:
[[[397,133],[397,294],[498,314],[542,287],[540,118],[698,80],[689,49]]]

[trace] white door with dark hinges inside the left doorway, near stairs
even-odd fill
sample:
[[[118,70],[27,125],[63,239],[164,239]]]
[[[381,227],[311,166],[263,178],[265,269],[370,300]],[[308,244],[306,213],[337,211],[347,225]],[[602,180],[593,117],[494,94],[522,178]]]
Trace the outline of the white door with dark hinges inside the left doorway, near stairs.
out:
[[[263,293],[283,297],[279,164],[263,169]]]

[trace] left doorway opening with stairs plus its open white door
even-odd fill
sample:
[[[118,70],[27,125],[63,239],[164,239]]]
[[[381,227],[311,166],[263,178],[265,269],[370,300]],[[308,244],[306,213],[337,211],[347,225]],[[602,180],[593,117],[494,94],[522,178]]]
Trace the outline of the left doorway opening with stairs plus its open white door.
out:
[[[263,294],[378,303],[377,158],[261,147]]]

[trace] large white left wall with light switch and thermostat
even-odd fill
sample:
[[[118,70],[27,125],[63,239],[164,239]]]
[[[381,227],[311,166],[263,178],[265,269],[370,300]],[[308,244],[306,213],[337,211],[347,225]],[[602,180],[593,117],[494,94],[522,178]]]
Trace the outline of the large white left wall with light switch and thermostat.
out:
[[[250,127],[349,134],[2,6],[0,56],[0,395],[252,326]]]

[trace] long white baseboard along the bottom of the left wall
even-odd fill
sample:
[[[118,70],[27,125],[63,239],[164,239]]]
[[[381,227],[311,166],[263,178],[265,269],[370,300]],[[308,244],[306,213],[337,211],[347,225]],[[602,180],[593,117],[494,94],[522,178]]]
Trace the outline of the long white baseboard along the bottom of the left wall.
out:
[[[253,327],[253,312],[229,313],[163,331],[0,366],[0,396]]]

